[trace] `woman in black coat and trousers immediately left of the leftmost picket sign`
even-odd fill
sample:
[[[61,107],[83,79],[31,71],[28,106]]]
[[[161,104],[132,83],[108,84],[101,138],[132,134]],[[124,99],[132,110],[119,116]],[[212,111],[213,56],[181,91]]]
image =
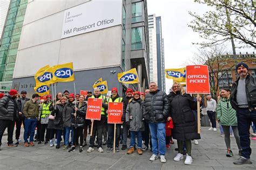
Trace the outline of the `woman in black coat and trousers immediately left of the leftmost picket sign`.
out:
[[[73,146],[70,148],[69,152],[75,151],[76,141],[80,138],[80,148],[79,152],[83,152],[83,141],[84,141],[84,124],[85,124],[85,114],[86,114],[86,103],[84,102],[85,97],[81,95],[79,97],[79,102],[76,104],[75,113],[71,114],[71,127],[73,127],[74,137]]]

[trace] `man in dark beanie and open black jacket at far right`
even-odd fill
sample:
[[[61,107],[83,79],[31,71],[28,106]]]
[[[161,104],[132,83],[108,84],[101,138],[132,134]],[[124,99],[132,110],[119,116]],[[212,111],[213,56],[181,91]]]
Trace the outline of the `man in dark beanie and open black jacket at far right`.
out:
[[[252,164],[250,155],[250,126],[256,124],[256,78],[248,73],[248,65],[238,63],[235,67],[239,78],[233,83],[231,105],[237,111],[238,132],[242,147],[242,155],[234,164]]]

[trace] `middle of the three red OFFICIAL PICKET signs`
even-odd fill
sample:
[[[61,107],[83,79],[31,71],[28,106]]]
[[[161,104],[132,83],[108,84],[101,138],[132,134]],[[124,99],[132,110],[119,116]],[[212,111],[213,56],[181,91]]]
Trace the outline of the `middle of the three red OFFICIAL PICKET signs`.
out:
[[[109,110],[107,113],[108,124],[123,124],[121,121],[123,115],[122,102],[109,102]]]

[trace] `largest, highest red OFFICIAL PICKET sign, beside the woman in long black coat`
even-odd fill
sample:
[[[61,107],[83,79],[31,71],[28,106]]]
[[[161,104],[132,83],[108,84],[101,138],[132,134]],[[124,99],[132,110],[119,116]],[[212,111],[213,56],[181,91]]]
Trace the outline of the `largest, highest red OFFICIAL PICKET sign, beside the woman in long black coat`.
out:
[[[210,94],[209,71],[207,65],[186,66],[186,93]]]

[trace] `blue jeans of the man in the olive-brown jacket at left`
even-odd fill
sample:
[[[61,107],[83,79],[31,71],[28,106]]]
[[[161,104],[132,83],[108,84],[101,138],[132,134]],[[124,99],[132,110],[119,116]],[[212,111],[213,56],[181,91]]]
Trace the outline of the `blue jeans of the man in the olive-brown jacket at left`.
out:
[[[25,118],[25,130],[23,134],[24,142],[29,142],[33,141],[34,135],[35,135],[35,128],[37,124],[37,119],[27,119]],[[29,137],[30,135],[30,137]]]

